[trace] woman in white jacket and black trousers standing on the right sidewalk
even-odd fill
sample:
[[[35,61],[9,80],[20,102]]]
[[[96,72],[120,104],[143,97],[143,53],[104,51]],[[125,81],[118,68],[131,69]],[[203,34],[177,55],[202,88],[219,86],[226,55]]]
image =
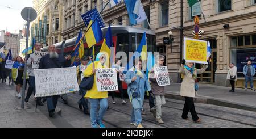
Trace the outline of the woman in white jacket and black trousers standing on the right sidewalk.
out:
[[[237,67],[233,63],[229,64],[229,70],[226,79],[230,80],[231,90],[229,92],[234,92],[235,85],[237,81]]]

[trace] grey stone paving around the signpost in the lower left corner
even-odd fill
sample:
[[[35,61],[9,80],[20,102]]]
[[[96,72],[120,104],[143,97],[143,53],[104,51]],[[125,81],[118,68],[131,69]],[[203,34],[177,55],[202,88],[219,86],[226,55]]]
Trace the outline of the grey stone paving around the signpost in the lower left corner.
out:
[[[21,106],[21,99],[15,96],[15,86],[0,83],[0,127],[1,128],[53,128],[55,125],[30,103],[30,109],[16,110]]]

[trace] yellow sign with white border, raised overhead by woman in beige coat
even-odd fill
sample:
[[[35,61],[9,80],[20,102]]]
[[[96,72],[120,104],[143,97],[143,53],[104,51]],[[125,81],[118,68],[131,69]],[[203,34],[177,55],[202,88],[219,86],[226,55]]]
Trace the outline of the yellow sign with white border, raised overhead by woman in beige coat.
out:
[[[207,64],[207,41],[184,37],[183,57],[187,62]]]

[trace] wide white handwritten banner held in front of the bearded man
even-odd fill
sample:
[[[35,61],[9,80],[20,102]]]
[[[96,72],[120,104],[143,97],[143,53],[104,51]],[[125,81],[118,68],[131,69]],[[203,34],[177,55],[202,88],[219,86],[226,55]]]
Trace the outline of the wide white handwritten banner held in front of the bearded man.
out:
[[[76,67],[36,69],[34,73],[36,84],[35,97],[61,95],[79,91]]]

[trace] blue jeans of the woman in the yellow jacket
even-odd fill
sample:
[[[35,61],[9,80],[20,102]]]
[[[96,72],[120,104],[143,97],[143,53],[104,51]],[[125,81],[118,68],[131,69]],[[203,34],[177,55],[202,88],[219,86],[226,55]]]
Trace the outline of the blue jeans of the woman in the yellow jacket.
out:
[[[108,99],[89,99],[90,100],[90,121],[92,128],[97,127],[97,123],[102,123],[103,116],[108,109]],[[100,110],[98,111],[98,104]]]

